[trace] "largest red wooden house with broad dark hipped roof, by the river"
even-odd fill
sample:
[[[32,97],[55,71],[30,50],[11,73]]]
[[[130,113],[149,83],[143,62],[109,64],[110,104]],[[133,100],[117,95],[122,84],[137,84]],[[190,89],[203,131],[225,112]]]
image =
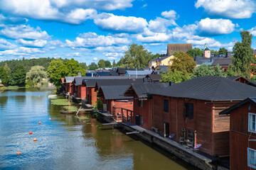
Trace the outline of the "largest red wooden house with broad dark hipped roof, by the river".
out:
[[[153,93],[152,125],[175,140],[201,144],[212,156],[229,155],[229,117],[218,113],[248,96],[256,88],[223,77],[197,77]]]

